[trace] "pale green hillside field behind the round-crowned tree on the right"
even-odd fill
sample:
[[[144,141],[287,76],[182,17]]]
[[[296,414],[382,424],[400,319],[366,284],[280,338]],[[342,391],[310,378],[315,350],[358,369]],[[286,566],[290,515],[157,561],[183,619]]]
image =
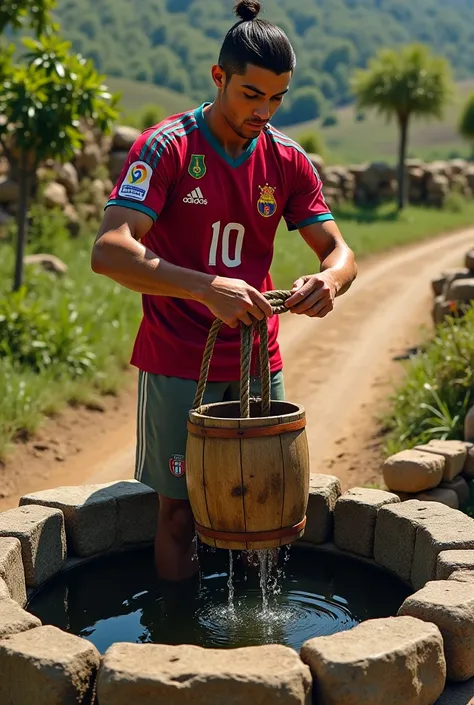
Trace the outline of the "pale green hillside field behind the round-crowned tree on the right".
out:
[[[450,157],[468,157],[469,145],[461,139],[457,125],[461,109],[468,95],[474,92],[474,80],[456,84],[450,104],[441,121],[414,120],[409,135],[409,154],[427,161]],[[359,164],[367,161],[395,163],[398,132],[394,123],[386,124],[374,112],[367,113],[362,122],[355,120],[354,106],[336,111],[338,124],[321,127],[319,120],[282,128],[293,139],[318,132],[326,145],[329,164]]]

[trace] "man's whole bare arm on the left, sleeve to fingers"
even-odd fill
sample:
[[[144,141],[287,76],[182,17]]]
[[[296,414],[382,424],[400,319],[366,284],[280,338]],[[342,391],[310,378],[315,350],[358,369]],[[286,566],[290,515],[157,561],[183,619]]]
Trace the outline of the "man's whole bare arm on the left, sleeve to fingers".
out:
[[[91,253],[91,267],[127,289],[153,296],[194,299],[224,323],[249,325],[272,313],[268,301],[240,279],[216,277],[166,262],[139,242],[153,225],[141,211],[109,206]]]

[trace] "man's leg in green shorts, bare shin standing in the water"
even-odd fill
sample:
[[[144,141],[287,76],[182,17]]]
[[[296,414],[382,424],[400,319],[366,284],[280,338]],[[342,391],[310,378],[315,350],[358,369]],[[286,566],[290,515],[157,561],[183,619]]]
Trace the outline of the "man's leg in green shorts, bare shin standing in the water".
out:
[[[186,441],[196,382],[140,372],[135,478],[159,496],[155,561],[160,578],[185,580],[193,561],[194,519],[186,488]],[[227,385],[210,383],[205,402],[220,401]]]

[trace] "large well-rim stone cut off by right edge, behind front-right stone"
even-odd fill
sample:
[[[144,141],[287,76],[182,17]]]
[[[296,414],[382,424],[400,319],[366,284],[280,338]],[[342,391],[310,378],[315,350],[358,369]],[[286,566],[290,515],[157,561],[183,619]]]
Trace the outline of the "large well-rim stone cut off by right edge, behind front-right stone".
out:
[[[435,580],[410,595],[398,611],[436,624],[444,642],[448,680],[474,676],[474,590],[456,580]]]

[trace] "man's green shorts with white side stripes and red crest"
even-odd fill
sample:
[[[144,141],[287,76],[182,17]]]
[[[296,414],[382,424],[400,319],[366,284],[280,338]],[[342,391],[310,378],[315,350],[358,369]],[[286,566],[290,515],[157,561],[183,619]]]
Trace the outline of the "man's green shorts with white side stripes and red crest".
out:
[[[284,401],[283,372],[272,374],[271,398]],[[187,421],[197,382],[140,371],[135,479],[171,499],[188,499],[185,475]],[[260,394],[260,381],[251,384]],[[204,403],[238,401],[239,382],[209,382]]]

